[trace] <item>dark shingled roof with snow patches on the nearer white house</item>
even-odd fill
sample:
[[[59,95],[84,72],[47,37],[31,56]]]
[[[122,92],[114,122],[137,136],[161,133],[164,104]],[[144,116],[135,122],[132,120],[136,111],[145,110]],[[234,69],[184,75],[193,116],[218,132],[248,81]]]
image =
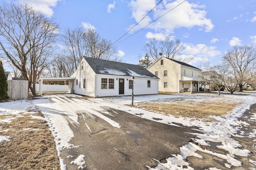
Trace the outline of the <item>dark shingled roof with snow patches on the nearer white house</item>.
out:
[[[91,57],[84,57],[96,74],[158,78],[140,65],[120,63]]]

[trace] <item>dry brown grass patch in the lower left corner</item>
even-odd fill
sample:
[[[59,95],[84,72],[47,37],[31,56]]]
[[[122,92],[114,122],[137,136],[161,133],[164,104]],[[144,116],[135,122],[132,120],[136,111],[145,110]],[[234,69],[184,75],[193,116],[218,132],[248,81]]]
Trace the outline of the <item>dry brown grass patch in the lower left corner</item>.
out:
[[[10,141],[0,142],[1,170],[59,170],[60,162],[54,137],[43,119],[42,113],[0,115],[0,135],[9,136]]]

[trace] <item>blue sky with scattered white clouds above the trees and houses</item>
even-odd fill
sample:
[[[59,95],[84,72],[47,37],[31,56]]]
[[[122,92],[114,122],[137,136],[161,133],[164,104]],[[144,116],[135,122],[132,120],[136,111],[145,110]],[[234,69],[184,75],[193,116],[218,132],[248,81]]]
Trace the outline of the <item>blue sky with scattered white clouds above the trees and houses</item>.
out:
[[[0,0],[1,2],[2,0]],[[160,0],[19,0],[48,17],[56,18],[60,33],[65,28],[94,28],[113,43],[140,21]],[[18,1],[14,1],[18,2]],[[168,12],[180,4],[174,10]],[[132,35],[148,23],[148,27]],[[220,63],[234,45],[256,45],[256,0],[162,0],[126,37],[117,44],[118,56],[125,63],[138,64],[149,38],[166,35],[180,39],[182,56],[193,56],[189,63],[199,66]]]

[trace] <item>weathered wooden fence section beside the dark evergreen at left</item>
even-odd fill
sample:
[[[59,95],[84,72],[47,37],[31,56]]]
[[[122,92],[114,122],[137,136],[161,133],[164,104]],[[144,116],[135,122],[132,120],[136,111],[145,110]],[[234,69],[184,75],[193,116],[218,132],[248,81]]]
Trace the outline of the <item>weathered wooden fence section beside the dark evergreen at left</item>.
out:
[[[8,80],[9,100],[28,99],[28,80]]]

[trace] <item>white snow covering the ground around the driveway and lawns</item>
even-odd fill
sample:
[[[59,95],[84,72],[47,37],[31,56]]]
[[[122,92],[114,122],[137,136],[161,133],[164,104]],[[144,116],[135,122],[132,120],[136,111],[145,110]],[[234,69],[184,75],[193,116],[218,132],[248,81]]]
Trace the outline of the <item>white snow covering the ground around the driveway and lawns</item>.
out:
[[[189,170],[193,168],[189,166],[188,162],[186,162],[186,158],[188,156],[196,156],[198,158],[203,158],[200,154],[197,154],[196,151],[200,150],[201,152],[206,152],[208,154],[212,154],[218,156],[222,159],[227,160],[226,163],[227,168],[231,168],[232,166],[241,166],[242,162],[236,160],[236,156],[248,156],[250,154],[249,150],[240,149],[242,145],[232,139],[232,136],[243,137],[242,132],[240,134],[236,134],[240,129],[240,125],[248,125],[246,122],[239,121],[237,118],[241,117],[246,109],[250,109],[250,106],[256,103],[256,94],[248,94],[246,96],[243,95],[230,95],[230,94],[222,94],[221,96],[209,96],[206,94],[172,94],[172,95],[147,95],[147,96],[134,96],[134,104],[138,102],[144,101],[153,101],[153,100],[161,100],[170,102],[172,100],[176,100],[177,98],[185,98],[186,100],[194,100],[200,101],[204,99],[210,100],[225,100],[229,102],[241,102],[240,106],[237,106],[233,109],[232,113],[222,116],[213,116],[214,119],[218,120],[217,122],[204,122],[198,121],[190,118],[183,117],[173,117],[166,116],[158,113],[154,113],[152,111],[143,110],[136,107],[125,106],[126,104],[131,104],[130,96],[122,96],[122,97],[108,97],[108,98],[89,98],[88,101],[91,102],[83,102],[82,104],[70,103],[69,105],[73,105],[73,107],[61,104],[61,100],[64,96],[80,97],[74,94],[59,94],[53,96],[42,96],[38,97],[35,100],[19,100],[19,101],[10,101],[5,103],[0,103],[0,115],[2,114],[13,114],[17,116],[22,116],[22,113],[25,113],[26,110],[40,109],[44,114],[46,121],[48,121],[48,125],[52,134],[55,137],[56,148],[58,150],[58,156],[60,157],[60,150],[79,147],[74,146],[70,143],[74,134],[68,125],[67,119],[62,116],[65,115],[68,117],[70,122],[77,124],[78,123],[78,115],[79,110],[87,109],[90,113],[94,114],[94,116],[98,116],[108,123],[110,123],[113,127],[120,128],[120,125],[115,121],[109,119],[103,114],[95,111],[104,111],[101,106],[109,106],[116,109],[120,109],[122,111],[126,111],[130,114],[134,114],[136,116],[140,116],[145,119],[150,119],[152,121],[156,121],[155,118],[158,118],[158,122],[168,123],[170,125],[177,126],[175,123],[180,123],[184,126],[189,127],[198,127],[198,133],[193,133],[196,135],[196,139],[194,140],[196,143],[200,145],[209,145],[209,141],[222,143],[222,145],[218,146],[220,149],[224,149],[228,151],[228,154],[219,154],[214,153],[212,151],[202,149],[198,145],[193,143],[188,143],[182,147],[180,147],[180,154],[172,155],[167,159],[167,163],[158,163],[158,166],[154,169],[176,169],[182,170],[182,166],[187,166]],[[52,99],[51,99],[52,98]],[[66,104],[66,103],[65,103]],[[71,109],[72,108],[72,109]],[[31,113],[31,112],[30,112]],[[105,111],[106,113],[106,111]],[[252,118],[251,121],[254,123],[256,121],[256,113],[255,119]],[[153,119],[154,118],[154,119]],[[13,117],[10,119],[0,119],[0,121],[12,121]],[[196,129],[195,129],[196,130]],[[0,127],[1,131],[1,127]],[[250,133],[246,137],[255,137],[256,131]],[[0,136],[0,142],[6,140],[8,141],[7,136]],[[256,141],[255,141],[256,142]],[[255,144],[256,145],[256,144]],[[80,155],[78,158],[74,158],[72,161],[73,164],[77,164],[79,167],[84,167],[83,160],[84,155]],[[156,160],[157,161],[157,160]],[[250,160],[251,162],[255,162],[254,160]],[[60,165],[62,170],[66,170],[66,166],[63,162],[63,159],[60,158]],[[213,165],[214,166],[214,165]],[[148,167],[149,169],[153,169]],[[209,170],[214,170],[215,167],[210,168]]]

